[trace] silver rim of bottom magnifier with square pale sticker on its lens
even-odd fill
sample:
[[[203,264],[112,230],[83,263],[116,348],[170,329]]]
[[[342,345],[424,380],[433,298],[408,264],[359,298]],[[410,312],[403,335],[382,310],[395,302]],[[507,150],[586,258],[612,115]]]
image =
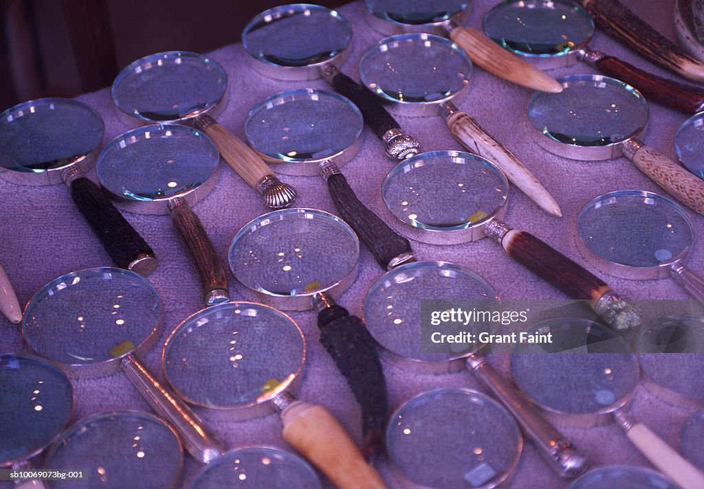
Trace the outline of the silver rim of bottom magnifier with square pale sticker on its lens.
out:
[[[470,399],[474,400],[479,400],[481,402],[484,402],[487,405],[490,405],[491,407],[494,407],[494,409],[498,409],[498,412],[501,412],[505,415],[505,421],[507,421],[515,431],[517,435],[517,446],[516,446],[516,452],[515,452],[515,457],[513,459],[513,462],[510,464],[508,469],[505,470],[505,473],[499,474],[502,475],[499,477],[497,480],[492,480],[489,481],[489,483],[486,483],[484,485],[479,485],[479,486],[472,486],[475,489],[492,489],[496,488],[497,486],[501,485],[502,483],[505,483],[507,481],[510,481],[511,478],[515,475],[515,468],[521,458],[521,454],[523,451],[523,435],[521,433],[520,428],[515,422],[515,419],[509,414],[509,412],[506,410],[503,405],[500,403],[496,402],[494,399],[489,398],[489,396],[480,393],[477,390],[472,390],[472,389],[467,389],[467,388],[439,388],[439,389],[434,389],[434,390],[427,390],[425,392],[422,392],[420,394],[417,394],[413,396],[413,398],[410,398],[403,402],[401,406],[398,407],[394,411],[393,414],[391,414],[391,417],[389,417],[389,423],[386,425],[386,452],[387,452],[387,457],[389,457],[389,465],[391,467],[391,471],[394,474],[394,477],[403,483],[403,487],[408,487],[408,488],[419,488],[419,489],[430,489],[427,488],[425,485],[420,485],[418,483],[415,483],[415,481],[412,481],[406,474],[404,474],[403,469],[401,469],[401,466],[399,466],[398,462],[394,460],[394,450],[390,446],[391,443],[389,443],[389,439],[391,438],[391,431],[396,426],[396,420],[401,419],[403,417],[403,410],[404,409],[413,409],[413,405],[417,404],[418,402],[427,402],[427,398],[435,398],[435,397],[440,397],[440,396],[446,396],[446,395],[463,395],[467,396]],[[501,486],[503,487],[503,486]]]

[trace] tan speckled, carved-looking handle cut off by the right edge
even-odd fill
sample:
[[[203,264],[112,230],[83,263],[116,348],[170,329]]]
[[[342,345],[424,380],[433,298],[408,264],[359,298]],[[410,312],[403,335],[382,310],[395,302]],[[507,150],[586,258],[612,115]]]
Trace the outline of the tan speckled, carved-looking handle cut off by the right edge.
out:
[[[628,155],[628,153],[625,153]],[[633,163],[678,201],[704,214],[704,180],[665,158],[655,148],[641,146],[631,158]]]

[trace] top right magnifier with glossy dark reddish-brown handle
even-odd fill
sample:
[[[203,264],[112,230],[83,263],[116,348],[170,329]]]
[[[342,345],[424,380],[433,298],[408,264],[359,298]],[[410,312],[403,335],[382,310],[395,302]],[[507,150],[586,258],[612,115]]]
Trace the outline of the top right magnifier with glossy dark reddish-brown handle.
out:
[[[589,48],[594,23],[570,1],[507,0],[484,15],[484,33],[508,51],[543,70],[584,61],[604,75],[639,89],[649,101],[696,113],[704,90],[650,75],[634,65]]]

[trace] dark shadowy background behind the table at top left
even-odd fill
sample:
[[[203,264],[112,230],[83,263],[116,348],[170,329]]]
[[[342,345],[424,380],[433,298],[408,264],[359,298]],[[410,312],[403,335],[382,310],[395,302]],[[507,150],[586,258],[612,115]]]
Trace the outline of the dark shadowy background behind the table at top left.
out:
[[[0,112],[30,99],[101,89],[151,53],[205,53],[239,42],[254,15],[284,2],[0,0]]]

